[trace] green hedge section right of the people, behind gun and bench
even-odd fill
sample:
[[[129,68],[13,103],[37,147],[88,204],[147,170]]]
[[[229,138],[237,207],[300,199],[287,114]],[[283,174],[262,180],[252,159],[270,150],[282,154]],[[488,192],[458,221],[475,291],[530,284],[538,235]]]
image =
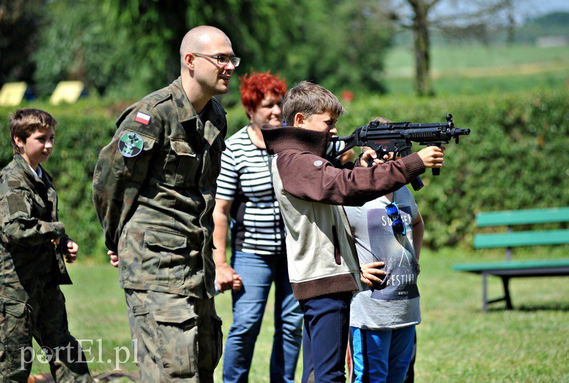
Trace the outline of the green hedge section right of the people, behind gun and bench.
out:
[[[343,124],[363,125],[376,115],[442,122],[451,113],[457,127],[470,128],[459,145],[447,145],[440,176],[427,171],[425,188],[414,193],[427,245],[470,246],[479,211],[569,205],[568,95],[561,88],[435,100],[367,98],[349,105]]]

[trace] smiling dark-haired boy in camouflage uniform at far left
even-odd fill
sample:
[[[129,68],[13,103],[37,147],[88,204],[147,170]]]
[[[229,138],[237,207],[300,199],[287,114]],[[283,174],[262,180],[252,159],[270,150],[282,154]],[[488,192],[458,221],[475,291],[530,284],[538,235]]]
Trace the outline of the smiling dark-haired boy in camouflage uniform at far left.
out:
[[[58,221],[52,179],[39,166],[51,154],[56,124],[37,109],[10,120],[14,160],[0,172],[0,382],[27,382],[32,336],[56,382],[92,382],[59,288],[71,283],[62,254],[73,262],[78,246]]]

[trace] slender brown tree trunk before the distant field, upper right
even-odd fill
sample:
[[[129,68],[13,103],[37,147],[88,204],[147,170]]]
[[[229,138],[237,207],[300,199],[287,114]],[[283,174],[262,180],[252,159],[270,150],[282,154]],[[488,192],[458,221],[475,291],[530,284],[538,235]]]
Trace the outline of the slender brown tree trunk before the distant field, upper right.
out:
[[[434,95],[430,84],[429,6],[424,0],[409,0],[413,7],[413,43],[415,48],[415,87],[418,95]]]

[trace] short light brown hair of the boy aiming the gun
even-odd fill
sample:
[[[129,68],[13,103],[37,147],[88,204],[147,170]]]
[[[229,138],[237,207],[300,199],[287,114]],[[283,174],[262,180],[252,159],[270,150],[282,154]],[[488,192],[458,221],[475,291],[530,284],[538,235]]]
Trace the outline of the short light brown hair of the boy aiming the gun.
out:
[[[294,116],[297,113],[302,113],[309,119],[325,112],[337,118],[346,113],[346,110],[334,93],[308,81],[302,81],[289,89],[282,103],[282,116],[289,126],[294,124]]]

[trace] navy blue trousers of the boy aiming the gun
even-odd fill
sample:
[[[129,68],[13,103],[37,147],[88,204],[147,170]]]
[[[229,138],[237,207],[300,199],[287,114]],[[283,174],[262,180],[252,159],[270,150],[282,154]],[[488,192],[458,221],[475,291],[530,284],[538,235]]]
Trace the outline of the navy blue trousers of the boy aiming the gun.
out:
[[[346,382],[351,292],[302,300],[302,383]],[[311,375],[314,372],[314,379]]]

